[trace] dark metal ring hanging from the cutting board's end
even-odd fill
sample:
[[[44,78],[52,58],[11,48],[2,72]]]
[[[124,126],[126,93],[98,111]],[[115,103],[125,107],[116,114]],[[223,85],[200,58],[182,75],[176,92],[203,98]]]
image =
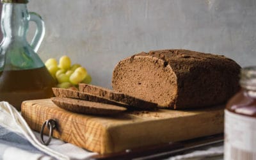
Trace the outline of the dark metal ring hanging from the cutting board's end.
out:
[[[44,141],[45,125],[47,125],[47,128],[50,130],[49,131],[49,138],[46,142]],[[44,145],[49,145],[49,143],[51,142],[51,139],[52,139],[52,132],[53,132],[54,128],[56,128],[56,121],[55,120],[49,119],[49,120],[46,120],[44,122],[44,124],[42,125],[42,128],[41,128],[41,131],[40,131],[41,143],[43,143]]]

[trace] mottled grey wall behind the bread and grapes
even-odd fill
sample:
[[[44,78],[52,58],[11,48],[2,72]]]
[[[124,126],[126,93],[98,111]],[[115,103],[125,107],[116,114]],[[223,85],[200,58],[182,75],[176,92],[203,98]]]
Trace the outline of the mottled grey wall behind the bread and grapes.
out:
[[[67,54],[92,84],[108,88],[116,63],[141,51],[190,49],[242,67],[256,62],[255,0],[31,0],[28,10],[45,20],[42,60]]]

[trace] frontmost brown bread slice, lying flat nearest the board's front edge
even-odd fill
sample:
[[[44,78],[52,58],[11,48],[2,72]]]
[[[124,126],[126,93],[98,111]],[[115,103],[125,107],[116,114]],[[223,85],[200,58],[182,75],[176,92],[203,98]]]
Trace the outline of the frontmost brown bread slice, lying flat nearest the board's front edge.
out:
[[[72,111],[74,113],[114,115],[126,110],[126,108],[120,106],[90,102],[87,100],[72,99],[68,97],[52,97],[51,100],[58,107]]]

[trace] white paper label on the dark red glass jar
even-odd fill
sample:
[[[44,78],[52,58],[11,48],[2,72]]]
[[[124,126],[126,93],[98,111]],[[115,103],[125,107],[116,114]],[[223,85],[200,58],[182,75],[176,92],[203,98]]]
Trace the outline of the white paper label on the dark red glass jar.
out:
[[[256,118],[225,110],[224,159],[256,160]]]

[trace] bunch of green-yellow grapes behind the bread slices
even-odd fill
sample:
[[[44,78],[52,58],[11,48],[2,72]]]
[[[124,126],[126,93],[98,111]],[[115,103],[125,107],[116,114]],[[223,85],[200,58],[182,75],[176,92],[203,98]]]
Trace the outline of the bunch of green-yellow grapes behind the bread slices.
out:
[[[68,56],[61,56],[58,61],[54,58],[49,58],[45,61],[45,66],[49,70],[51,76],[58,81],[59,88],[70,88],[78,83],[90,83],[92,77],[87,73],[86,68],[79,64],[71,64]]]

